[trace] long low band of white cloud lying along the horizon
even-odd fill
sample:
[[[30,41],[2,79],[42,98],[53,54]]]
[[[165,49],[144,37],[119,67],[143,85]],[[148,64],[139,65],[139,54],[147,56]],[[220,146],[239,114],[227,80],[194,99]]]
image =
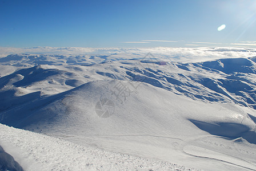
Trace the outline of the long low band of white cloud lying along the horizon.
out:
[[[198,44],[191,44],[195,46]],[[53,54],[53,55],[110,55],[110,59],[140,58],[147,53],[155,58],[175,62],[198,62],[220,58],[245,58],[256,56],[256,48],[235,47],[154,47],[154,48],[83,48],[83,47],[34,47],[11,48],[0,47],[0,56],[9,54]],[[118,54],[118,55],[114,55]],[[137,54],[137,55],[134,55]]]

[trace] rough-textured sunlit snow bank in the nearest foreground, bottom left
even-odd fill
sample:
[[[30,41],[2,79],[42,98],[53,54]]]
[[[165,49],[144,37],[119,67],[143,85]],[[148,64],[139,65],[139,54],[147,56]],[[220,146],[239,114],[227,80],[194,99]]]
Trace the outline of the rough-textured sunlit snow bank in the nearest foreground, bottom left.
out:
[[[81,146],[2,124],[0,144],[25,170],[197,170]]]

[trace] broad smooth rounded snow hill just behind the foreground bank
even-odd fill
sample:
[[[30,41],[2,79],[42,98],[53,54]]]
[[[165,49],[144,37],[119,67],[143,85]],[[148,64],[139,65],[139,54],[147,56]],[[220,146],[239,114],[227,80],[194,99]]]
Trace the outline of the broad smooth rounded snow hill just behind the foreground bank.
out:
[[[14,107],[3,112],[3,123],[7,121],[5,124],[46,133],[82,145],[99,146],[142,157],[151,156],[158,160],[183,163],[202,169],[210,169],[209,165],[217,168],[215,161],[209,164],[207,160],[190,157],[197,156],[198,152],[187,152],[187,148],[191,144],[200,144],[199,146],[206,149],[214,148],[212,153],[217,153],[218,156],[211,158],[226,163],[233,163],[235,160],[235,164],[242,168],[249,166],[255,169],[251,164],[255,162],[251,155],[242,155],[234,150],[223,152],[222,148],[215,149],[212,145],[225,144],[230,149],[237,149],[234,146],[237,145],[239,137],[245,142],[255,142],[255,139],[250,139],[251,136],[255,137],[255,123],[239,106],[194,101],[144,83],[138,87],[137,92],[131,93],[126,101],[119,101],[111,95],[111,90],[119,83],[127,84],[120,81],[90,82],[69,92],[35,100],[22,107]],[[101,99],[113,102],[114,113],[111,113],[110,117],[102,118],[97,115],[99,108],[96,108],[95,104]],[[221,127],[218,128],[216,124]],[[211,125],[218,129],[212,128]],[[231,143],[219,139],[218,136],[234,140]],[[239,148],[237,150],[240,150]],[[225,159],[224,156],[229,157]],[[235,169],[232,166],[225,168]]]

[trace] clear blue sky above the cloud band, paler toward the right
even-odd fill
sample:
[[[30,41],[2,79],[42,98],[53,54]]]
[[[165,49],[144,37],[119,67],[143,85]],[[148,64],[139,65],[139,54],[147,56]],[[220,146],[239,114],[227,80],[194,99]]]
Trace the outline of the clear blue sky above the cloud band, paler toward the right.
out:
[[[255,21],[254,0],[0,0],[0,46],[256,48]]]

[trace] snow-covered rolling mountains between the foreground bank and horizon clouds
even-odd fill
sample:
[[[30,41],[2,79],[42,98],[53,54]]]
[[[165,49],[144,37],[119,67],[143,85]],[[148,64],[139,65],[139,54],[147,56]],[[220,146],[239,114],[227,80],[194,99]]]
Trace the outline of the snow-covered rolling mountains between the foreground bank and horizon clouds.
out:
[[[8,55],[0,58],[0,121],[104,153],[256,170],[256,58],[171,57]]]

